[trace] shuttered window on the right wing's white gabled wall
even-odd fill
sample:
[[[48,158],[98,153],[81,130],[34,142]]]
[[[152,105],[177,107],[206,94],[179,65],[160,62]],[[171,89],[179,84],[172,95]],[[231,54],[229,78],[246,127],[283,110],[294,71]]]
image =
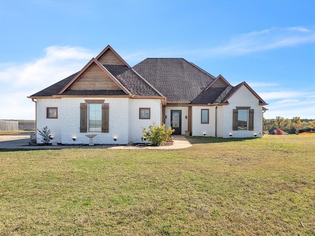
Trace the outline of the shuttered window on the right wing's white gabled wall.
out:
[[[254,110],[250,107],[233,109],[233,130],[254,130]]]

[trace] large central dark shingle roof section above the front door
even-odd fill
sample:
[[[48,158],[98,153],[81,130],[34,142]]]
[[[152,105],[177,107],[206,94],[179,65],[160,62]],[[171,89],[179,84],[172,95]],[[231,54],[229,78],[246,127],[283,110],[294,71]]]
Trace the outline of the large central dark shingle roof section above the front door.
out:
[[[148,58],[132,68],[170,102],[191,102],[215,79],[182,58]]]

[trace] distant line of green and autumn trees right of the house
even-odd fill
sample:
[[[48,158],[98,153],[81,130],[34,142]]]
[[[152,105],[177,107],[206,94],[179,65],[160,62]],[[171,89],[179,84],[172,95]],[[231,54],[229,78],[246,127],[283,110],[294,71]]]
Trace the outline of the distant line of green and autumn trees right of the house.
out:
[[[292,119],[276,117],[275,119],[263,118],[263,130],[282,129],[283,131],[294,134],[303,129],[315,129],[315,119],[301,119],[293,117]]]

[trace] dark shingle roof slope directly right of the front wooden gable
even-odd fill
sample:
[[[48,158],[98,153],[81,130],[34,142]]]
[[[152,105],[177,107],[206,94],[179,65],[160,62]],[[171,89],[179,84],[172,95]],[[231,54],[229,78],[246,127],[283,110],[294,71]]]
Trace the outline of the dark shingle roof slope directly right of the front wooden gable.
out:
[[[133,95],[163,96],[126,65],[103,65]]]

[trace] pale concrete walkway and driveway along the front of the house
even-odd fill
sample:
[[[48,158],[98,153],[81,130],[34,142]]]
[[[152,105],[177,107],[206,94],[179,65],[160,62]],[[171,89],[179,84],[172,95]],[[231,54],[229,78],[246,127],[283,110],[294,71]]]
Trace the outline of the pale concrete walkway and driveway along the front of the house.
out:
[[[181,149],[192,145],[184,135],[173,135],[173,145],[170,146],[29,146],[30,134],[0,135],[0,149],[63,149],[63,148],[110,148],[110,149]]]

